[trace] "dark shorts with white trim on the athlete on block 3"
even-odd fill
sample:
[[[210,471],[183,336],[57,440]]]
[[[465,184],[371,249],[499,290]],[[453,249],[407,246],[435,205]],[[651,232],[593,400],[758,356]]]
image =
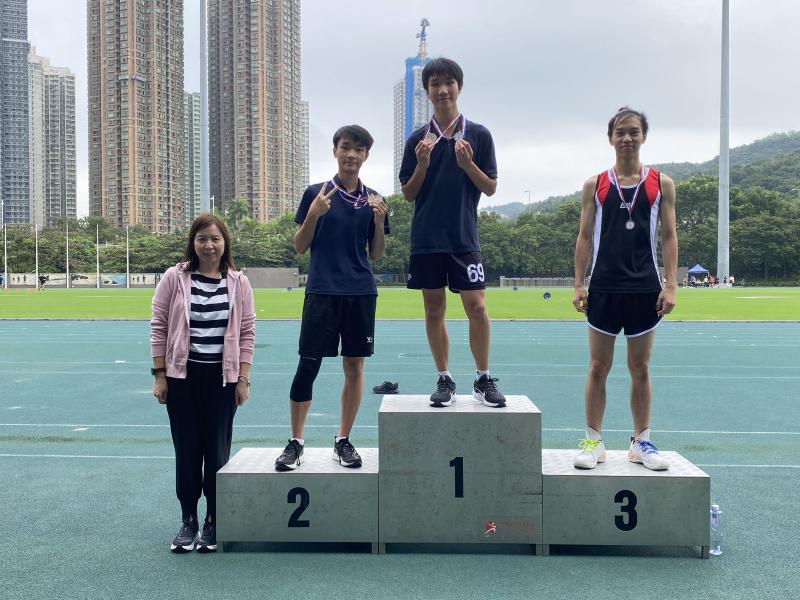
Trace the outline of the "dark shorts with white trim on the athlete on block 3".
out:
[[[656,328],[661,317],[656,312],[659,292],[644,294],[607,294],[589,290],[589,327],[617,335],[622,329],[627,337],[636,337]]]

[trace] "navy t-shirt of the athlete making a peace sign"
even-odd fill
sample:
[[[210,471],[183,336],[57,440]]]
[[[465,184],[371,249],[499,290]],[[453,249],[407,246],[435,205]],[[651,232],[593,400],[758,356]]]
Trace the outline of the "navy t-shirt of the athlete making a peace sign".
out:
[[[338,178],[336,182],[340,184]],[[361,181],[358,188],[361,189]],[[302,224],[308,209],[322,189],[322,183],[306,188],[295,223]],[[331,185],[328,182],[328,190]],[[366,193],[377,194],[365,187]],[[389,233],[389,215],[384,217],[384,233]],[[341,193],[331,196],[331,208],[317,219],[311,241],[306,293],[341,296],[374,296],[378,293],[375,276],[367,257],[367,244],[375,233],[375,218],[367,204],[355,208]]]

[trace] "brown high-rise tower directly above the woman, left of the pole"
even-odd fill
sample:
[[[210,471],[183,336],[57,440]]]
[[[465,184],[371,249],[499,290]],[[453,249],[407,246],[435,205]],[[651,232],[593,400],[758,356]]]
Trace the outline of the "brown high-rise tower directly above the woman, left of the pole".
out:
[[[87,0],[89,210],[185,224],[183,0]]]

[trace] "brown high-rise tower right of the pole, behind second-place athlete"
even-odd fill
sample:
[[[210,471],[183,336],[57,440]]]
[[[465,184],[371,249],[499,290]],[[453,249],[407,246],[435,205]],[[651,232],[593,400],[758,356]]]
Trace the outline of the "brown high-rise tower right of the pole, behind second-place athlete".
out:
[[[303,193],[300,0],[209,0],[208,128],[217,207],[246,198],[261,222]]]

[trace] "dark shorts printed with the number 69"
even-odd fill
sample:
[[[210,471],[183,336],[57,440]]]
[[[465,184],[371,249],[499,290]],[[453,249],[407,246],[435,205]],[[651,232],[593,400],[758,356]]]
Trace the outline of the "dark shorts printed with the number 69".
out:
[[[458,254],[412,254],[406,286],[412,290],[438,290],[445,286],[451,292],[486,289],[480,252]]]

